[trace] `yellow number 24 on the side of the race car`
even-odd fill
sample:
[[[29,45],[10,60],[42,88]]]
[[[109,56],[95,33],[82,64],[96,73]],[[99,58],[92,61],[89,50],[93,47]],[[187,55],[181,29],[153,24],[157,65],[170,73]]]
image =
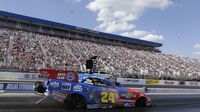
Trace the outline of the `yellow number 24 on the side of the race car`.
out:
[[[102,103],[115,103],[115,92],[101,92],[101,102]]]

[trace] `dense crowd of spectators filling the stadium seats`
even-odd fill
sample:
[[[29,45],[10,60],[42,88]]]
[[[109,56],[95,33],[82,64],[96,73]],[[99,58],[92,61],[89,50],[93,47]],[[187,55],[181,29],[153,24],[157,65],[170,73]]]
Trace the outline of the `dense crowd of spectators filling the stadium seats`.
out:
[[[1,68],[36,71],[65,65],[84,72],[86,60],[93,56],[98,71],[119,77],[200,79],[198,59],[0,28]]]

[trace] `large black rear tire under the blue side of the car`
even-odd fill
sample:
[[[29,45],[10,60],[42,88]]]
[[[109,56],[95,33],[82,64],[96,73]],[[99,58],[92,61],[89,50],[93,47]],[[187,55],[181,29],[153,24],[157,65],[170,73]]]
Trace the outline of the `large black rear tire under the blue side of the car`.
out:
[[[64,103],[66,104],[67,109],[86,109],[86,101],[82,95],[72,94],[65,99]]]

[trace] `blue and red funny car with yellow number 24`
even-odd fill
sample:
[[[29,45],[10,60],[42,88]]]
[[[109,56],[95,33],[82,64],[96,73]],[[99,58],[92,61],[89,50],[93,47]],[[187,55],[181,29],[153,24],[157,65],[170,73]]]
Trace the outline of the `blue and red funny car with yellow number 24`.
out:
[[[93,74],[67,70],[41,69],[45,84],[37,83],[35,90],[66,104],[67,108],[113,108],[151,106],[144,93],[116,86]]]

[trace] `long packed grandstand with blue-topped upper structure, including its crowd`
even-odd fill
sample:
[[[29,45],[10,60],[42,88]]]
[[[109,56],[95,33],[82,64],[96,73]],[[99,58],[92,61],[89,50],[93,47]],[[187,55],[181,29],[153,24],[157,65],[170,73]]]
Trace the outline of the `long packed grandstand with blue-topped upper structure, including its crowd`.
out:
[[[196,59],[163,54],[160,43],[0,11],[0,67],[22,71],[71,65],[120,77],[199,80]]]

